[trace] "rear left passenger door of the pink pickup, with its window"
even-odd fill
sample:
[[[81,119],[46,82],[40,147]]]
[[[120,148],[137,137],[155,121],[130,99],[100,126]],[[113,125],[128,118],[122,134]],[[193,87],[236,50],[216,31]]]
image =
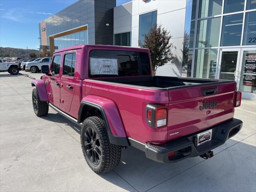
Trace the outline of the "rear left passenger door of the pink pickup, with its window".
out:
[[[75,93],[75,67],[78,50],[63,53],[62,76],[60,81],[61,109],[70,111],[70,106]]]

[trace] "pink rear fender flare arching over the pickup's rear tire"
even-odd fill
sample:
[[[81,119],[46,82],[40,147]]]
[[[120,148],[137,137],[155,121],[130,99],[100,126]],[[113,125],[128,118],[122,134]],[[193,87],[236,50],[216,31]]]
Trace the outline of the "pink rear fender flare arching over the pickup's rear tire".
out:
[[[124,126],[122,123],[122,118],[113,100],[95,95],[88,95],[84,97],[82,100],[102,106],[104,112],[106,113],[108,124],[110,126],[112,134],[114,136],[126,137]]]

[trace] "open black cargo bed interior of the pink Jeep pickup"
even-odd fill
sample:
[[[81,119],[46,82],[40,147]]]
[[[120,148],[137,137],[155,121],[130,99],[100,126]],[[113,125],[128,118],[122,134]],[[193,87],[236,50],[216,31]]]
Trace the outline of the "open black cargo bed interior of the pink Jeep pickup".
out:
[[[95,80],[110,82],[114,84],[126,84],[127,86],[136,86],[152,90],[172,90],[178,88],[188,88],[199,85],[214,85],[232,82],[230,80],[217,79],[197,79],[180,78],[166,76],[146,76],[146,77],[118,77],[118,78],[97,78]]]

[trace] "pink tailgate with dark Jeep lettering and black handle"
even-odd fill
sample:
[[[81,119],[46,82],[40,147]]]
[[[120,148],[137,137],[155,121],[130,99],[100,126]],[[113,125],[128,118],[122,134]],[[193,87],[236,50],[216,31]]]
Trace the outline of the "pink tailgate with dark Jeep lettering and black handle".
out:
[[[235,82],[168,91],[168,140],[201,132],[233,118]]]

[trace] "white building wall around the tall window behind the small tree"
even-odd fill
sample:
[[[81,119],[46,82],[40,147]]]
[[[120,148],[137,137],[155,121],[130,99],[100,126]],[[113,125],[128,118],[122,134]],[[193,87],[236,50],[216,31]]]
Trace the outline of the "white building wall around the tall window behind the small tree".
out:
[[[172,35],[172,53],[182,58],[186,0],[132,0],[114,8],[114,34],[131,31],[131,46],[138,47],[139,15],[157,10],[157,24],[162,24]],[[172,63],[160,67],[158,76],[181,76],[182,63]]]

